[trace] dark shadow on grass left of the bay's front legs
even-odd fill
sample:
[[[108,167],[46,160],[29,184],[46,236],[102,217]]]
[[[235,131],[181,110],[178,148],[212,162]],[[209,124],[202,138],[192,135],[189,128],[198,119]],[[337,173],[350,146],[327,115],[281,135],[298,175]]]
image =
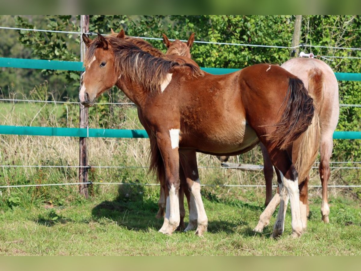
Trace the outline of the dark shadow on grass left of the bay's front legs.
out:
[[[155,218],[157,211],[157,203],[144,198],[144,186],[119,185],[117,198],[95,206],[92,216],[99,223],[106,219],[127,229],[148,231],[162,226],[163,221]]]

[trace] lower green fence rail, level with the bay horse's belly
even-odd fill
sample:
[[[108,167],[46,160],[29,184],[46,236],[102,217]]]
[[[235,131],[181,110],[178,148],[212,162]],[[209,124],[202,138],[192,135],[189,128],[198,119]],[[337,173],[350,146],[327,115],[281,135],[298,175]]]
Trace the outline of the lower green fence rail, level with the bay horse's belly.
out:
[[[0,134],[19,136],[148,138],[145,130],[0,125]],[[361,139],[361,132],[334,132],[334,139]]]

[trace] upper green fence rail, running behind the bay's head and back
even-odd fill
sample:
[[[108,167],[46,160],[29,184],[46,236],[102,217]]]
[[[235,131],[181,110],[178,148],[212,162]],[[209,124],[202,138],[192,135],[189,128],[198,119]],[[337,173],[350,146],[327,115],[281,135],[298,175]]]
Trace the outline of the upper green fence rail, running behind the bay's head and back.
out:
[[[24,69],[45,69],[45,70],[84,70],[83,63],[77,61],[58,61],[41,59],[19,59],[0,57],[0,67],[24,68]],[[239,69],[227,68],[201,68],[205,72],[212,74],[226,74]],[[339,81],[361,81],[361,73],[335,73]]]

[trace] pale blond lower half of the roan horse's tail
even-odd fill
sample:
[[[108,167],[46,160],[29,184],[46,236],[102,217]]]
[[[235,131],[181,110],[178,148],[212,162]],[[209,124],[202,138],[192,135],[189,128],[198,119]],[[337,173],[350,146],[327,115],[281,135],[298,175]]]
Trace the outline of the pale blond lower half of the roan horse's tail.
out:
[[[313,115],[312,123],[300,137],[300,145],[295,162],[299,181],[304,181],[314,164],[321,138],[318,114]]]

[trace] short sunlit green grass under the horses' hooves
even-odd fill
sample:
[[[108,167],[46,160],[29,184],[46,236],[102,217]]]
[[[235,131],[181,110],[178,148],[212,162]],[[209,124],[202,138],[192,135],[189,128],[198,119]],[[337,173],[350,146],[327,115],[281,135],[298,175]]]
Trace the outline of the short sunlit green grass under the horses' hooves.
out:
[[[120,187],[102,197],[74,199],[63,205],[13,207],[0,212],[0,255],[360,255],[360,204],[344,198],[330,201],[330,224],[321,222],[320,203],[311,203],[308,230],[290,236],[289,210],[285,232],[270,238],[272,226],[255,234],[263,198],[243,201],[204,193],[208,232],[158,233],[155,218],[158,188]],[[134,193],[125,198],[123,193]],[[134,190],[136,189],[136,190]],[[138,190],[137,190],[138,189]],[[141,190],[139,190],[141,189]],[[140,193],[143,191],[144,193]],[[244,195],[246,196],[246,195]],[[275,218],[271,220],[271,224]],[[187,221],[187,217],[186,217]]]

